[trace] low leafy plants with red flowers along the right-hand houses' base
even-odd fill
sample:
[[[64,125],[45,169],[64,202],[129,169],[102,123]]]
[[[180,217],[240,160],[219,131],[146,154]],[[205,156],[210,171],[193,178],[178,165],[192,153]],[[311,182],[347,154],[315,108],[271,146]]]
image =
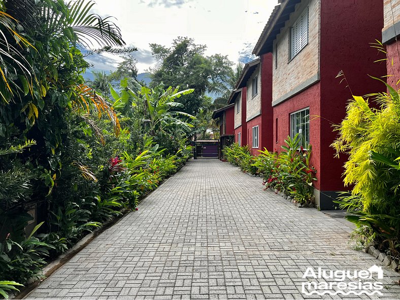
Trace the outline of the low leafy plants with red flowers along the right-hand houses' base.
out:
[[[300,139],[288,137],[282,146],[282,151],[277,154],[268,150],[259,151],[260,154],[252,156],[248,146],[233,144],[224,148],[226,159],[239,166],[244,172],[252,175],[262,175],[266,188],[277,189],[290,195],[295,202],[300,204],[313,204],[313,182],[317,180],[317,171],[310,164],[312,154],[311,145],[305,150],[300,146]]]

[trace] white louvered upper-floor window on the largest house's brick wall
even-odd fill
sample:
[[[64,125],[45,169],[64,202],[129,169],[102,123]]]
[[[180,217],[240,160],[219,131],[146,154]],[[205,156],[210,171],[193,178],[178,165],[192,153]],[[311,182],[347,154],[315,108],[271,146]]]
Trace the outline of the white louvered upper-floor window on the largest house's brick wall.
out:
[[[308,43],[308,8],[290,28],[290,59]]]

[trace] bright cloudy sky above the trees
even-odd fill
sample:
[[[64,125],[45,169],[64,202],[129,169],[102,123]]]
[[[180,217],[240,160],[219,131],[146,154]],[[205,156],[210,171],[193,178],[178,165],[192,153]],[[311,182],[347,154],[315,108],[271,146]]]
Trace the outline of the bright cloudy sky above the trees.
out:
[[[278,0],[95,0],[94,12],[113,16],[128,46],[138,48],[139,73],[154,64],[149,44],[170,47],[177,37],[207,45],[206,55],[228,55],[238,62],[251,52]],[[114,71],[122,60],[103,53],[87,60],[96,70]]]

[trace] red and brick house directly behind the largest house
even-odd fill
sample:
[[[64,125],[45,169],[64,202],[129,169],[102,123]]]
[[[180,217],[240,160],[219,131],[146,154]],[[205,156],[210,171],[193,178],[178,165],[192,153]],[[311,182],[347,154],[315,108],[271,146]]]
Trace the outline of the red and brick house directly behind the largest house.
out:
[[[264,148],[272,151],[272,55],[267,53],[246,63],[235,88],[246,93],[245,144],[249,145],[252,155]],[[242,126],[243,123],[242,119]]]

